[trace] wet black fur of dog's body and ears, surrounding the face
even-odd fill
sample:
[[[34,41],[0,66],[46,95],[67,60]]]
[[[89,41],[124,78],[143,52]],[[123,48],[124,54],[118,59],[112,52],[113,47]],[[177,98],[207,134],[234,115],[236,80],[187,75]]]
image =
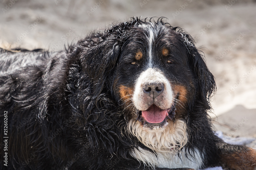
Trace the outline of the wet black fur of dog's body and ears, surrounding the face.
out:
[[[193,38],[163,18],[131,18],[59,52],[0,49],[0,169],[7,168],[5,152],[7,169],[144,169],[128,152],[146,147],[127,129],[131,115],[117,87],[135,82],[136,76],[130,75],[136,73],[125,65],[123,56],[134,48],[133,40],[140,40],[134,25],[146,22],[165,28],[177,49],[185,49],[181,57],[188,68],[182,71],[187,76],[175,79],[189,87],[181,115],[188,126],[187,154],[193,155],[197,148],[205,158],[202,167],[221,165],[217,146],[223,142],[212,132],[206,113],[215,81]],[[192,85],[186,84],[188,77]],[[3,143],[4,111],[8,112],[8,151]]]

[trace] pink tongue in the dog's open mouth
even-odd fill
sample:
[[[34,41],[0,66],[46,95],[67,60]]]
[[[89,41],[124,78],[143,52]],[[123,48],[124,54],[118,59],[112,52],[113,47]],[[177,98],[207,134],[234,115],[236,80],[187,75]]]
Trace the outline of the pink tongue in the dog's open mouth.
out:
[[[142,111],[142,117],[149,123],[161,123],[168,116],[167,110],[161,110],[155,105],[150,106],[145,111]]]

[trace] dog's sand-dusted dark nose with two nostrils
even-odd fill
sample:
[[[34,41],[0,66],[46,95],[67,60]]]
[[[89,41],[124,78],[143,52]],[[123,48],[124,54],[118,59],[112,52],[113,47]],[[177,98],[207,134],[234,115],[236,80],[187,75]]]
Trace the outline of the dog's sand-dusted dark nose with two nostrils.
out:
[[[143,86],[143,92],[153,99],[156,98],[164,91],[164,85],[162,83],[145,83]]]

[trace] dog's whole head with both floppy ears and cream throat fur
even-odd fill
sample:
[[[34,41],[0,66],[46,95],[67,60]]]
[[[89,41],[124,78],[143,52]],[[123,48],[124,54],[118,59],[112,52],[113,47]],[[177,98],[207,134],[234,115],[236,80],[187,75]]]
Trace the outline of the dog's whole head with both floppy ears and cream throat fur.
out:
[[[173,140],[186,143],[190,114],[210,109],[209,98],[215,89],[214,77],[193,38],[161,18],[132,18],[106,30],[98,42],[88,50],[93,95],[107,90],[144,145],[155,145],[145,139],[152,138],[148,133],[176,134]],[[157,143],[165,140],[158,136]]]

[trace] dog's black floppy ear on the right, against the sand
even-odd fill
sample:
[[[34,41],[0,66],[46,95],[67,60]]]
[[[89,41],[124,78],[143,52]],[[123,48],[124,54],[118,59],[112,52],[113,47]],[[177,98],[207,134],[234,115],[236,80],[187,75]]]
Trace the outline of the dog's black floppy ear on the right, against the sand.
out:
[[[204,55],[195,47],[193,38],[186,32],[180,32],[183,43],[188,51],[188,62],[195,75],[196,100],[206,109],[211,109],[210,98],[216,90],[214,76],[208,70],[204,61]]]

